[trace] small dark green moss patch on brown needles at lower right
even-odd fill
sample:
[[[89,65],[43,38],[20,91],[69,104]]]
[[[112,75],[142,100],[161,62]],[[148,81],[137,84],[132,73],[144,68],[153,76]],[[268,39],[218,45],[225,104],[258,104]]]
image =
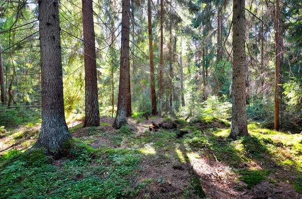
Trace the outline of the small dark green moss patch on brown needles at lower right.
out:
[[[239,177],[239,179],[247,183],[247,188],[251,189],[254,185],[259,184],[262,182],[262,180],[265,180],[265,176],[269,175],[271,171],[244,169],[237,172],[242,175]]]

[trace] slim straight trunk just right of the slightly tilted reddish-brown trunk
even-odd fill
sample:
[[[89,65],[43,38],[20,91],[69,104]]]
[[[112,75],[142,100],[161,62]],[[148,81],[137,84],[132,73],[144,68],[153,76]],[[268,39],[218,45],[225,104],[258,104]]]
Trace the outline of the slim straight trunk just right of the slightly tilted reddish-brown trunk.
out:
[[[162,117],[162,103],[163,103],[163,47],[164,47],[164,0],[161,0],[161,55],[160,55],[160,103],[159,103],[159,116]]]

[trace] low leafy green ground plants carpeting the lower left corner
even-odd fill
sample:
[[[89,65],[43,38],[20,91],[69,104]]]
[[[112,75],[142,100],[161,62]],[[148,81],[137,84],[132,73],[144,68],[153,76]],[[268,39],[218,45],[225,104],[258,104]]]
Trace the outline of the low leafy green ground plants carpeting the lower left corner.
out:
[[[0,198],[130,198],[148,183],[130,185],[141,155],[108,151],[106,159],[95,159],[94,151],[76,143],[62,168],[42,149],[8,152],[1,157],[6,163],[0,167]]]

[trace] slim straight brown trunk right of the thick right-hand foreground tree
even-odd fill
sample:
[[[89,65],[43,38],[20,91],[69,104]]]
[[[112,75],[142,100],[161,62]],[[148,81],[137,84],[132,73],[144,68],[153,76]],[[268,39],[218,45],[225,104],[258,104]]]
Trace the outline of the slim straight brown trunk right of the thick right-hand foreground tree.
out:
[[[281,62],[281,44],[280,44],[280,1],[276,0],[275,17],[275,114],[274,129],[279,130],[279,80],[280,80],[280,62]]]

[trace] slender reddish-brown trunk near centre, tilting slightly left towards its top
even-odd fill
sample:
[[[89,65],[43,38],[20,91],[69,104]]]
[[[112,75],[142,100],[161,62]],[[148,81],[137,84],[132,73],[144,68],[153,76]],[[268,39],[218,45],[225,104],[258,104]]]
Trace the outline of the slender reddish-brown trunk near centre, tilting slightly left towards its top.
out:
[[[151,80],[151,102],[152,115],[157,115],[156,92],[155,92],[155,77],[153,63],[153,38],[152,38],[152,15],[151,15],[151,0],[148,0],[148,34],[149,34],[149,55],[150,55],[150,80]]]

